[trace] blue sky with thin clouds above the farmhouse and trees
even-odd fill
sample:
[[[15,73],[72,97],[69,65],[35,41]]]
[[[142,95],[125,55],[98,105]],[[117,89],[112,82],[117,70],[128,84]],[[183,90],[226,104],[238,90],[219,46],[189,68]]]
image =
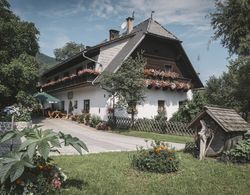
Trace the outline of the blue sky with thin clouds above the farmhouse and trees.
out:
[[[9,0],[22,20],[34,22],[40,52],[54,57],[53,50],[73,41],[86,46],[108,38],[109,29],[121,30],[128,16],[135,25],[153,19],[183,41],[183,47],[203,84],[227,70],[228,52],[212,41],[209,13],[214,0]]]

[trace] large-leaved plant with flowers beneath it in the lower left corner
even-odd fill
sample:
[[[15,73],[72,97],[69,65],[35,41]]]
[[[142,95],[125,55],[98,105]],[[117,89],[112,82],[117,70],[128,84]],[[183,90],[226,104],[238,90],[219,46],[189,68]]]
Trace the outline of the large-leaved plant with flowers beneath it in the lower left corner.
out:
[[[62,143],[73,146],[80,154],[86,145],[76,137],[51,129],[38,127],[22,131],[7,131],[0,143],[12,139],[25,140],[15,151],[0,158],[0,194],[50,194],[59,191],[65,174],[51,163],[50,152],[56,152]]]

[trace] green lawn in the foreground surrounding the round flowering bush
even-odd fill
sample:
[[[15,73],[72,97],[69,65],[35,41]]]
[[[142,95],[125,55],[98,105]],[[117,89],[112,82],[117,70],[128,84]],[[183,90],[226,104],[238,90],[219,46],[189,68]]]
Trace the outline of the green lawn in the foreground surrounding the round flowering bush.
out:
[[[178,153],[180,171],[157,174],[131,168],[131,154],[54,157],[69,177],[63,194],[249,194],[250,165],[199,161]]]

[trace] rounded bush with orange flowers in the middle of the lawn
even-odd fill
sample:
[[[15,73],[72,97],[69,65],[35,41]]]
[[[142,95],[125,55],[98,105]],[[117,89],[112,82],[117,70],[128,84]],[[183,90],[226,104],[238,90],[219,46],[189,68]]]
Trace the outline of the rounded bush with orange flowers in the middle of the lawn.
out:
[[[132,166],[141,171],[170,173],[178,171],[179,159],[176,151],[163,142],[152,143],[152,149],[137,149],[132,156]]]

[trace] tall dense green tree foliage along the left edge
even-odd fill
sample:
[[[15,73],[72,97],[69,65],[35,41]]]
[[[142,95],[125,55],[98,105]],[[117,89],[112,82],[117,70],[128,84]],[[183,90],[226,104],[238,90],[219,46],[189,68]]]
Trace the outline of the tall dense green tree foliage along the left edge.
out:
[[[32,57],[39,49],[38,34],[33,23],[21,21],[6,0],[0,1],[0,108],[32,99],[38,80]]]

